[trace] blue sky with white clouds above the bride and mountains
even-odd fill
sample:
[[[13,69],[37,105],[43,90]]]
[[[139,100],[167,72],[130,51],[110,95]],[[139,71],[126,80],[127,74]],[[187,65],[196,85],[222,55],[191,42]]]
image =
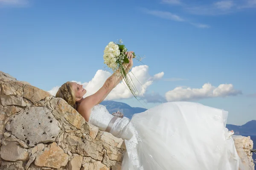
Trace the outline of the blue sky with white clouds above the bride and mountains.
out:
[[[200,102],[242,125],[256,119],[255,18],[256,0],[0,0],[0,70],[46,91],[74,80],[90,94],[110,75],[105,46],[122,38],[145,55],[133,73],[146,108]],[[108,99],[143,107],[122,92]]]

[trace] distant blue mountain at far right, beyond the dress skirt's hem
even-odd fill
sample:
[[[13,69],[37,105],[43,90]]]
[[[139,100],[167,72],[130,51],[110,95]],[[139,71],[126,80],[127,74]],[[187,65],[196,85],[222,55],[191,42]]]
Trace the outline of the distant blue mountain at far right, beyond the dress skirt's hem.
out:
[[[256,120],[251,120],[244,125],[227,125],[229,130],[234,130],[236,135],[256,136]]]

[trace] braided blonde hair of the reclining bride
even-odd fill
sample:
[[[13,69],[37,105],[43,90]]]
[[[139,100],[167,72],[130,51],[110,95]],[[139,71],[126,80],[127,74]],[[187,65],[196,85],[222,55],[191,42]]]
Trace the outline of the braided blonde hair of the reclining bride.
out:
[[[69,105],[76,109],[76,96],[70,82],[66,82],[61,85],[55,97],[64,99]]]

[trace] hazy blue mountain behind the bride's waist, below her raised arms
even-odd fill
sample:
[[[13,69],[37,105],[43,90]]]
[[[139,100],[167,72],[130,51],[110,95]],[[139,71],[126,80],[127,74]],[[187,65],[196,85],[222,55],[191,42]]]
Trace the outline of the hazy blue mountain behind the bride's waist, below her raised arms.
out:
[[[104,105],[108,109],[109,113],[120,111],[125,115],[125,117],[128,117],[129,119],[131,119],[135,113],[141,113],[147,110],[145,108],[133,108],[125,103],[111,100],[103,101],[100,104]]]

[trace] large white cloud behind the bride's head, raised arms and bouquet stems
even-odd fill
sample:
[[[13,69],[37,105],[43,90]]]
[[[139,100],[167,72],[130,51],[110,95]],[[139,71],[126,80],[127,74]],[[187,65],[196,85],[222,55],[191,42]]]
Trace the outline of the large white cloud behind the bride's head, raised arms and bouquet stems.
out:
[[[131,74],[131,72],[133,74]],[[154,76],[150,76],[148,73],[148,66],[147,65],[140,65],[136,66],[131,69],[130,76],[131,79],[134,82],[135,87],[137,88],[139,95],[143,96],[147,90],[147,88],[153,84],[153,82],[161,79],[164,75],[163,72],[160,72],[158,74],[155,74]],[[108,77],[111,76],[111,73],[108,71],[98,70],[93,77],[92,80],[89,82],[78,82],[79,84],[83,85],[83,87],[87,90],[87,93],[84,97],[89,96],[91,94],[96,93],[96,91],[99,90],[99,88],[102,87],[104,82]],[[76,82],[76,81],[73,81]],[[58,86],[52,88],[52,90],[48,91],[52,95],[55,95],[58,91]],[[117,99],[129,99],[132,98],[133,95],[128,90],[127,86],[121,82],[119,83],[116,88],[114,88],[110,94],[106,97],[106,100],[117,100]]]

